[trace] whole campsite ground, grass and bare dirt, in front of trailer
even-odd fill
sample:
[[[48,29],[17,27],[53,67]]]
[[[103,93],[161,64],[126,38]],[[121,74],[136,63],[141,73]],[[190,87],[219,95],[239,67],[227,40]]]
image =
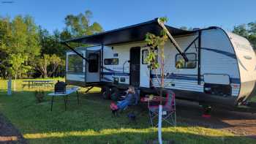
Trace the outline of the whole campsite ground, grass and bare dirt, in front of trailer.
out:
[[[111,101],[101,98],[99,88],[80,94],[80,105],[75,94],[72,95],[67,111],[59,97],[51,112],[50,96],[37,103],[34,97],[37,88],[22,89],[21,80],[17,84],[17,93],[7,96],[7,81],[0,80],[0,113],[29,143],[145,143],[157,138],[157,129],[148,124],[146,110],[137,110],[140,113],[137,124],[129,123],[127,112],[113,118],[109,110]],[[53,88],[42,89],[53,91]],[[164,139],[176,143],[256,143],[248,137],[256,135],[255,115],[214,110],[212,117],[205,119],[200,116],[200,109],[196,103],[177,101],[178,126],[164,125]],[[6,130],[1,128],[1,132]],[[18,135],[16,131],[14,134]]]

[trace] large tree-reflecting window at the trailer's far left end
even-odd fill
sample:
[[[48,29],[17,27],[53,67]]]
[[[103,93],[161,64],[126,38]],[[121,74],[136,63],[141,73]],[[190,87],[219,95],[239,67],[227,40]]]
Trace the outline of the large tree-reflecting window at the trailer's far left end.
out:
[[[83,55],[83,53],[80,53]],[[83,58],[77,54],[67,56],[67,72],[83,72]]]

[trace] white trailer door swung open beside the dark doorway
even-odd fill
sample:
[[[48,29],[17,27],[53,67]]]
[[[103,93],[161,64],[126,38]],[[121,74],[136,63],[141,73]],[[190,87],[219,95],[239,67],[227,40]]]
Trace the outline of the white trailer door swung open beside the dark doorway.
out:
[[[148,48],[140,49],[140,87],[149,88],[150,86],[150,69],[146,62],[148,56]]]

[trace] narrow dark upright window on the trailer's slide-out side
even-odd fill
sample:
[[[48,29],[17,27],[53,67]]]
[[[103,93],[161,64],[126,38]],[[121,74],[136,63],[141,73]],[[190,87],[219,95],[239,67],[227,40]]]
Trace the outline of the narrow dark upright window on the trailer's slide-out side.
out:
[[[99,71],[99,55],[97,53],[89,53],[89,72]]]

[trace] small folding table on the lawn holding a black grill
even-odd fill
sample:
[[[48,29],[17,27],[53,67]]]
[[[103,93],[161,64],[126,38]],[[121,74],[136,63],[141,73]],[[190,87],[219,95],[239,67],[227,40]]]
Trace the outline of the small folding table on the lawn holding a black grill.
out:
[[[78,90],[79,90],[79,87],[78,86],[74,86],[72,88],[67,88],[66,91],[64,93],[56,93],[56,92],[53,92],[53,93],[50,93],[48,94],[48,96],[52,96],[52,99],[51,99],[51,106],[50,106],[50,111],[53,111],[53,98],[55,96],[63,96],[64,97],[64,105],[65,105],[65,111],[67,110],[67,100],[68,100],[68,96],[74,92],[77,93],[77,99],[78,99],[78,105],[79,105],[79,94],[78,94]]]

